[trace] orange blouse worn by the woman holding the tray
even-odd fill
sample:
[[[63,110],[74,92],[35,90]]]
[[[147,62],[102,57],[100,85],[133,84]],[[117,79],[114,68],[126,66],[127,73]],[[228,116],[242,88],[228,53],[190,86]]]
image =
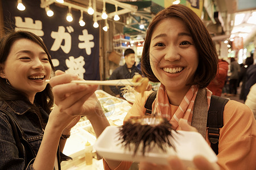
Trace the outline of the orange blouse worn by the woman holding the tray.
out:
[[[127,113],[130,117],[142,116],[146,112],[144,103],[151,92],[137,96],[133,107]],[[172,115],[177,107],[170,105]],[[224,126],[220,130],[218,145],[218,165],[221,169],[255,169],[256,168],[256,121],[245,104],[230,100],[223,113]],[[210,145],[208,138],[206,139]],[[129,169],[131,162],[121,162],[115,170]],[[110,169],[104,160],[104,168]]]

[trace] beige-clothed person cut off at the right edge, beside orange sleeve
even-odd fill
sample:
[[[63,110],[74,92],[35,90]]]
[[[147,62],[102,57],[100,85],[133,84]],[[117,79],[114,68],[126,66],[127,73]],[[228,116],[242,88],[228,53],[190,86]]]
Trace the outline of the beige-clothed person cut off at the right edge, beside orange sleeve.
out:
[[[256,119],[256,83],[251,86],[250,92],[245,100],[245,105],[253,111],[254,118]]]

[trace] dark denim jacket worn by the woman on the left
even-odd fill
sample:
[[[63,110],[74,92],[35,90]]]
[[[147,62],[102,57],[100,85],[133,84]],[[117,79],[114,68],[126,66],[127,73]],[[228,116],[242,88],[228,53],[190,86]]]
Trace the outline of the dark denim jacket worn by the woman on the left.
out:
[[[42,115],[40,119],[38,114],[22,100],[0,100],[0,107],[9,112],[18,122],[20,128],[24,131],[24,138],[36,155],[43,139],[44,130],[42,125],[47,123],[49,115],[39,107]],[[19,158],[9,119],[2,112],[0,112],[0,156],[0,169],[33,169],[33,161],[28,164],[28,167],[25,167],[25,160]],[[60,159],[58,160],[60,169]]]

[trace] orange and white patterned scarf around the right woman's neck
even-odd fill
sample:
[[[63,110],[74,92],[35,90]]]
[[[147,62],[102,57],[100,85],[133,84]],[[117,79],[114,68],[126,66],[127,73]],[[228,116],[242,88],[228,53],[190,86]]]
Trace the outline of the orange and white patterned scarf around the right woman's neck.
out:
[[[207,88],[207,102],[208,102],[208,109],[210,106],[210,96],[212,92],[209,91]],[[170,121],[173,128],[179,130],[179,119],[184,118],[188,121],[188,124],[191,125],[192,121],[192,114],[193,114],[193,106],[196,99],[198,88],[197,86],[191,86],[188,90],[187,94],[184,96],[183,100],[181,101],[179,108],[177,108],[176,112],[173,114],[171,113],[171,104],[169,102],[169,98],[167,96],[167,92],[163,84],[160,85],[159,90],[156,94],[156,100],[153,103],[153,108],[156,109],[156,113],[158,116],[162,116],[167,118]],[[160,96],[160,97],[159,97]],[[155,105],[156,102],[156,105]],[[155,112],[153,109],[153,113]]]

